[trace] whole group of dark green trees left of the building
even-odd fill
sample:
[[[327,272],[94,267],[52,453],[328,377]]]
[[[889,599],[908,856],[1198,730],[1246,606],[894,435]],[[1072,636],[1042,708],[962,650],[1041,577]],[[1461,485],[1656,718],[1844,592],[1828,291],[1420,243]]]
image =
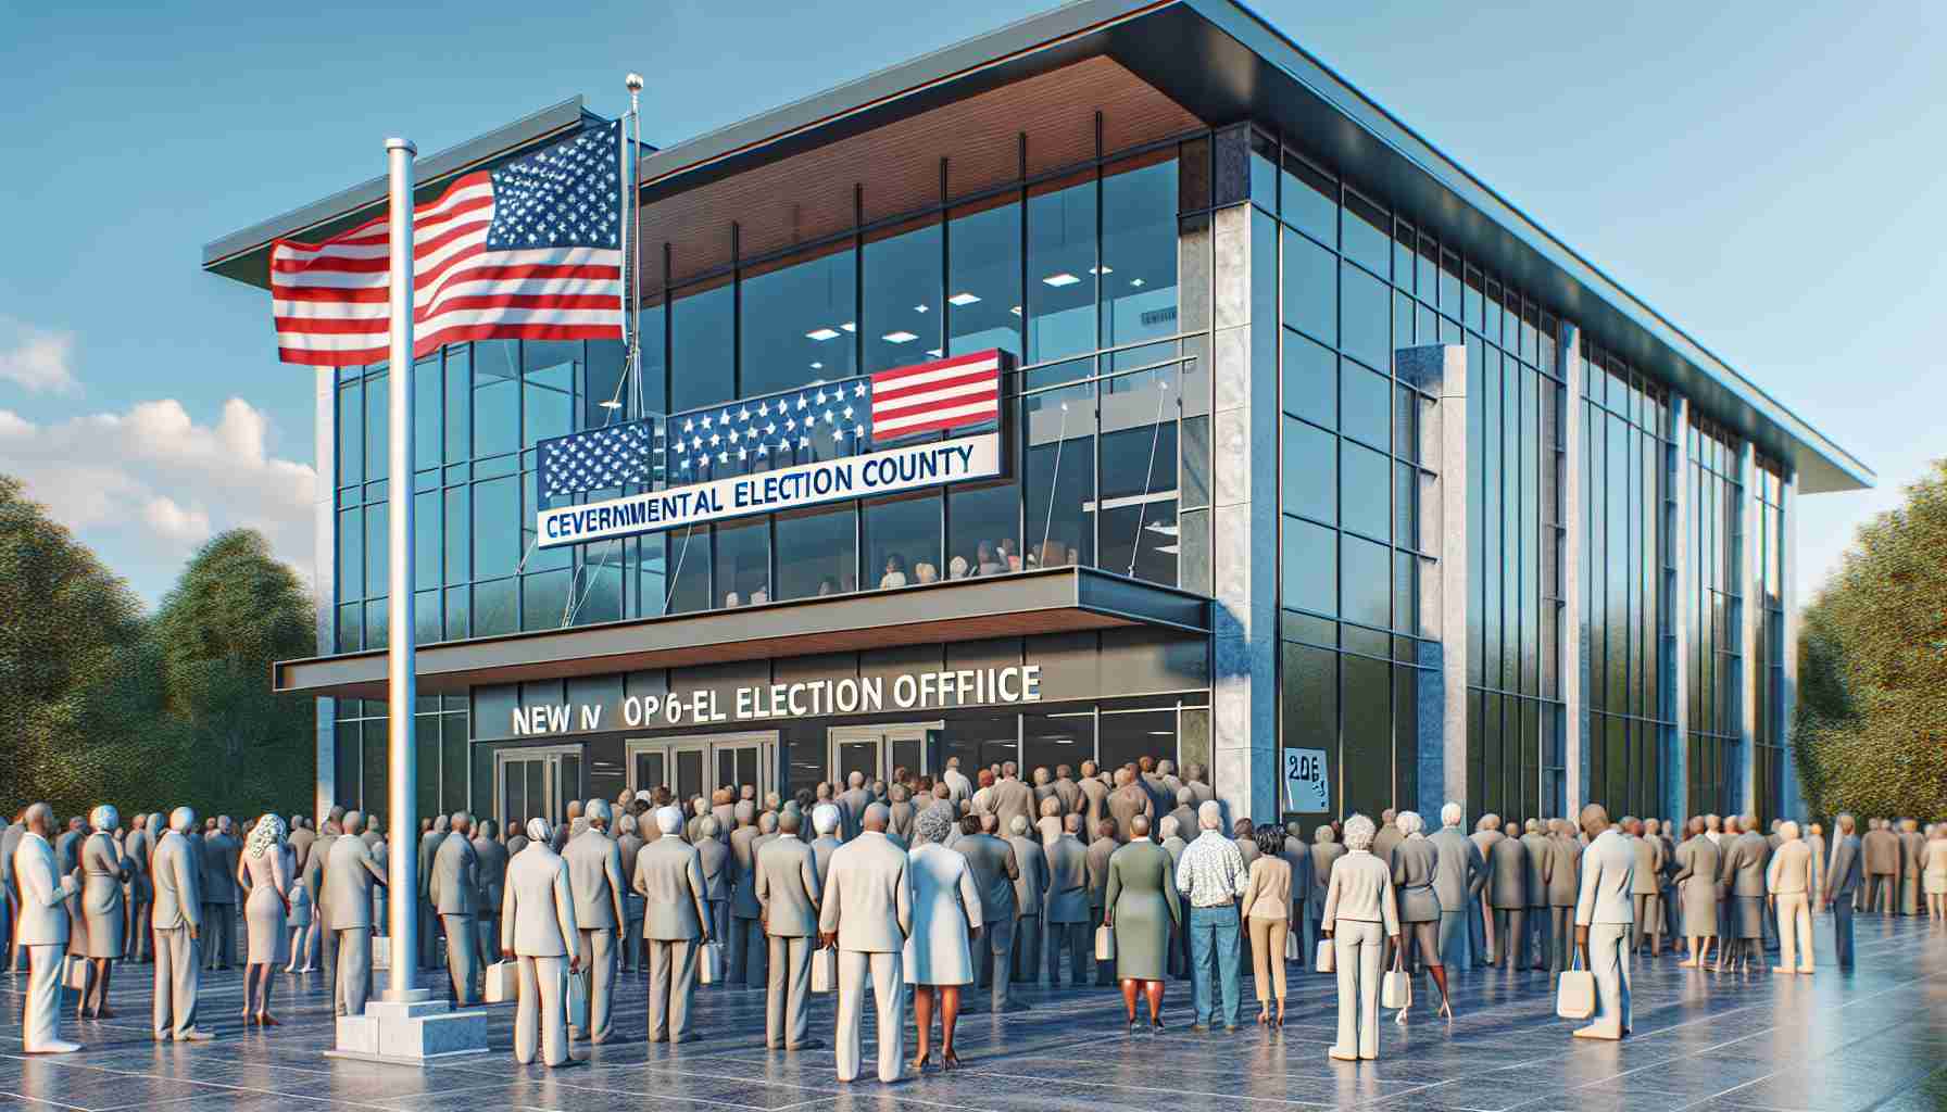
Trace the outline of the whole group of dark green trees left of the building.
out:
[[[0,475],[0,808],[310,810],[310,699],[271,662],[315,647],[312,604],[249,530],[210,539],[148,617]]]

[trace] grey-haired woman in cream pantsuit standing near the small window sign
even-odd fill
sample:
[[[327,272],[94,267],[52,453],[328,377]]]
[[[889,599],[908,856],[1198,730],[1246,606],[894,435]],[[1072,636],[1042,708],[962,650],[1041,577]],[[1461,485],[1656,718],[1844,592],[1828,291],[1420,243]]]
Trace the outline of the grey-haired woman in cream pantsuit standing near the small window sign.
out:
[[[1332,1057],[1378,1057],[1378,966],[1386,939],[1400,945],[1400,908],[1392,869],[1373,857],[1373,820],[1345,820],[1345,855],[1332,867],[1322,929],[1332,939],[1340,978],[1340,1030]]]

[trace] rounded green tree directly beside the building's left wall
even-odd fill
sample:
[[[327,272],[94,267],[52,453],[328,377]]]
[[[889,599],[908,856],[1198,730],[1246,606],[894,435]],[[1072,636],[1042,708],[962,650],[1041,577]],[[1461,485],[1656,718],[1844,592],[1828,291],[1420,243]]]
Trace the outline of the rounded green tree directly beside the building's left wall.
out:
[[[271,691],[271,664],[310,656],[312,600],[255,530],[212,537],[154,619],[164,709],[183,728],[187,798],[243,818],[310,810],[315,703]]]

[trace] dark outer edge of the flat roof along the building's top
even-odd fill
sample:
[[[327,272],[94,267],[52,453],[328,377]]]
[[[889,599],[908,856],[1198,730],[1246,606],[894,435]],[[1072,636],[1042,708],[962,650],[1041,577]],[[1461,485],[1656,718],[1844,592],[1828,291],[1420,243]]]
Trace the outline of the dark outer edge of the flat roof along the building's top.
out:
[[[1378,101],[1234,0],[1077,0],[730,127],[648,152],[641,197],[695,189],[1083,58],[1106,55],[1211,125],[1256,121],[1382,193],[1579,323],[1602,347],[1795,467],[1803,493],[1863,489],[1873,469],[1468,173]],[[584,127],[580,99],[421,160],[422,191]],[[278,236],[319,236],[384,204],[374,179],[204,247],[202,267],[263,284]]]

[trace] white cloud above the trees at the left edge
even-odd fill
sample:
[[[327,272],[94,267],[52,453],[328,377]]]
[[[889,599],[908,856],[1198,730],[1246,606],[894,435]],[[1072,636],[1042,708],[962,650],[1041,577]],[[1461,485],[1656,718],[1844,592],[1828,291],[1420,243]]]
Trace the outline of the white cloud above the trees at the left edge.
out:
[[[310,578],[317,473],[269,456],[267,428],[241,397],[216,425],[197,425],[171,397],[56,425],[0,409],[0,471],[25,481],[29,499],[121,575],[169,582],[216,532],[253,528]]]

